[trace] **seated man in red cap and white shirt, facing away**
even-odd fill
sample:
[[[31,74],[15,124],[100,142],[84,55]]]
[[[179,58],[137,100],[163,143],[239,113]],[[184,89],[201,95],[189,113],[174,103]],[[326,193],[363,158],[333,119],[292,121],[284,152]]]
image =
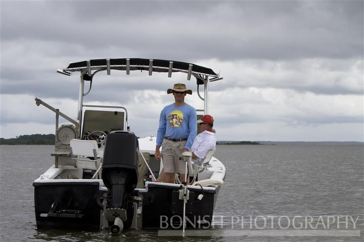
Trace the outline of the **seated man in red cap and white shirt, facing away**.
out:
[[[197,120],[202,132],[198,134],[191,147],[192,161],[195,164],[201,165],[208,150],[216,149],[216,131],[212,129],[214,119],[211,115],[204,115],[201,119]],[[189,165],[191,171],[191,165]],[[157,181],[163,182],[165,180],[165,172],[162,169]]]

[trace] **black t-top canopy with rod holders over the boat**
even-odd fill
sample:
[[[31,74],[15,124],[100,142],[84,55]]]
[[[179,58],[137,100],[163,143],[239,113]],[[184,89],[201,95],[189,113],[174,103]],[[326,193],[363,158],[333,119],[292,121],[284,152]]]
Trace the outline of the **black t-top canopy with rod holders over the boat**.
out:
[[[111,70],[126,70],[127,72],[129,70],[149,70],[150,72],[192,72],[193,74],[198,75],[219,76],[210,68],[190,63],[143,58],[91,59],[90,61],[71,63],[66,69],[63,69],[63,71],[77,72],[85,69],[102,70],[108,68]]]

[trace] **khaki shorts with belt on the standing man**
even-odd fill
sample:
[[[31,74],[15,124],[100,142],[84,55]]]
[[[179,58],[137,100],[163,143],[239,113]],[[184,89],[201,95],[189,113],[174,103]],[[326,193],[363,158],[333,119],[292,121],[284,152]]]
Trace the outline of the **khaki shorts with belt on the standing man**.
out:
[[[164,172],[185,174],[186,163],[182,157],[182,150],[187,141],[163,140],[161,156],[163,160]],[[182,157],[181,159],[179,159]],[[191,161],[188,162],[189,173],[192,171]]]

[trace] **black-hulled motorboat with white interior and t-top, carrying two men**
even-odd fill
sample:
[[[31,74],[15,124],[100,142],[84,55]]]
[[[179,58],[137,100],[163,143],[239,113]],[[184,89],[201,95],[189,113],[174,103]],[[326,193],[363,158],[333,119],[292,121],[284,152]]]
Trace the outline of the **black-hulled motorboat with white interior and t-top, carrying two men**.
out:
[[[156,137],[138,138],[128,124],[126,107],[84,102],[95,77],[115,71],[193,77],[204,102],[198,118],[208,113],[209,85],[222,79],[209,68],[162,59],[91,59],[58,69],[67,76],[79,72],[77,119],[35,98],[37,106],[56,113],[54,164],[33,182],[37,228],[109,229],[113,234],[123,229],[209,228],[225,179],[223,163],[209,151],[202,165],[195,166],[191,185],[156,182],[163,168],[154,158]],[[60,117],[70,123],[59,125]]]

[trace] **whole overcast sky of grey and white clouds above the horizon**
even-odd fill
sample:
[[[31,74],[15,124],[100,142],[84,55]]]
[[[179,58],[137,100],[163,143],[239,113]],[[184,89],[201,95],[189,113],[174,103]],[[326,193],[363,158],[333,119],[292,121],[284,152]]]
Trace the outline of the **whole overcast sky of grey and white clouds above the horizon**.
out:
[[[76,118],[78,75],[94,58],[160,58],[211,68],[218,140],[363,141],[363,1],[2,1],[1,134],[54,133]],[[166,89],[185,74],[95,76],[86,103],[122,105],[138,136],[156,134]],[[186,102],[196,108],[196,96]]]

